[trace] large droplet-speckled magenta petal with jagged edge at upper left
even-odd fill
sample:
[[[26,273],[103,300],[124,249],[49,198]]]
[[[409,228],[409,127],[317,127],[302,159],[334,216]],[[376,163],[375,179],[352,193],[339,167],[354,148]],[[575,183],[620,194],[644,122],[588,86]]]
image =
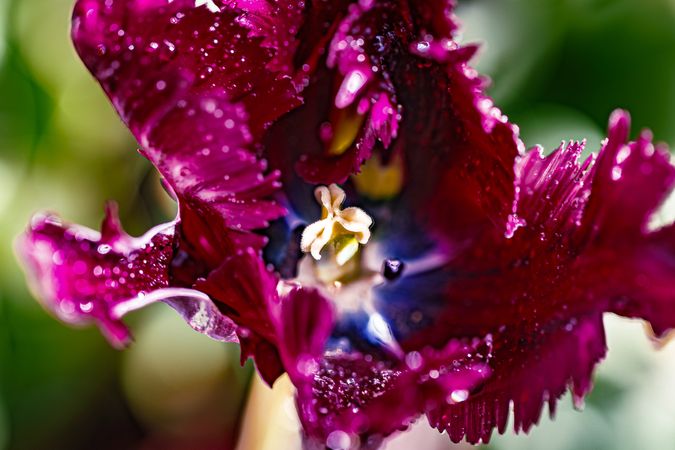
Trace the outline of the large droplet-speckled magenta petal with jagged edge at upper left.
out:
[[[81,0],[73,40],[181,208],[236,234],[284,213],[270,198],[278,173],[251,149],[298,100],[288,76],[265,69],[273,51],[238,13],[207,6]]]

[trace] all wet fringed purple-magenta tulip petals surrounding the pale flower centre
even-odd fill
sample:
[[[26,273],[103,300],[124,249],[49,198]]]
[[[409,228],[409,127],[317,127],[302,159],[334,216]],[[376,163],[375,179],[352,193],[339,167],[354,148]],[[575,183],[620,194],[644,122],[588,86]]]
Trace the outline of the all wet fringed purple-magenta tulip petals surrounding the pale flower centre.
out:
[[[578,160],[580,142],[526,153],[468,65],[476,47],[454,40],[454,5],[78,0],[77,51],[179,219],[132,238],[110,208],[100,234],[37,217],[19,251],[46,307],[116,346],[130,339],[122,317],[156,301],[239,341],[268,383],[289,373],[307,448],[375,448],[421,414],[455,442],[487,442],[510,405],[527,432],[568,387],[581,402],[605,354],[604,312],[659,336],[675,327],[675,225],[648,226],[675,168],[648,132],[627,142],[623,111],[597,160]],[[396,251],[385,241],[402,224],[431,257],[386,255],[403,273],[385,271],[378,301],[357,305],[376,311],[343,314],[261,256],[268,237],[293,253],[275,239],[300,227],[252,231],[315,184],[346,182],[359,200],[348,180],[373,154],[400,163],[404,183],[372,208],[373,244]],[[351,337],[362,316],[385,322],[390,347]]]

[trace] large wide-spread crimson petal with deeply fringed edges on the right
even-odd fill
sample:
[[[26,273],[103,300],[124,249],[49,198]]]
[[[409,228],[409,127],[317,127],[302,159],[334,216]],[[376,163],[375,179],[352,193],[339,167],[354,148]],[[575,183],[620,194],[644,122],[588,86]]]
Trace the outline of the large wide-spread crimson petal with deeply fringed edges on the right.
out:
[[[430,416],[453,440],[503,432],[510,402],[516,431],[527,431],[568,385],[581,401],[605,353],[603,312],[654,320],[657,334],[675,325],[672,230],[647,230],[675,168],[647,134],[627,136],[628,117],[617,112],[595,165],[578,161],[581,143],[520,158],[507,226],[451,262],[446,295],[461,301],[425,334],[495,332],[493,376],[481,393]]]

